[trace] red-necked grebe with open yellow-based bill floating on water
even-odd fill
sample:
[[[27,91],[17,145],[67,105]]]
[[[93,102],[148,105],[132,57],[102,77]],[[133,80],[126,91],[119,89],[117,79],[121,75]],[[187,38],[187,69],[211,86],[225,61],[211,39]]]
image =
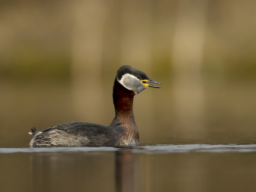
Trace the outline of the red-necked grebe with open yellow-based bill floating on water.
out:
[[[113,86],[115,118],[109,126],[93,123],[63,123],[45,130],[33,128],[31,147],[44,146],[138,146],[139,132],[133,115],[133,97],[158,83],[144,72],[124,65],[117,71]]]

